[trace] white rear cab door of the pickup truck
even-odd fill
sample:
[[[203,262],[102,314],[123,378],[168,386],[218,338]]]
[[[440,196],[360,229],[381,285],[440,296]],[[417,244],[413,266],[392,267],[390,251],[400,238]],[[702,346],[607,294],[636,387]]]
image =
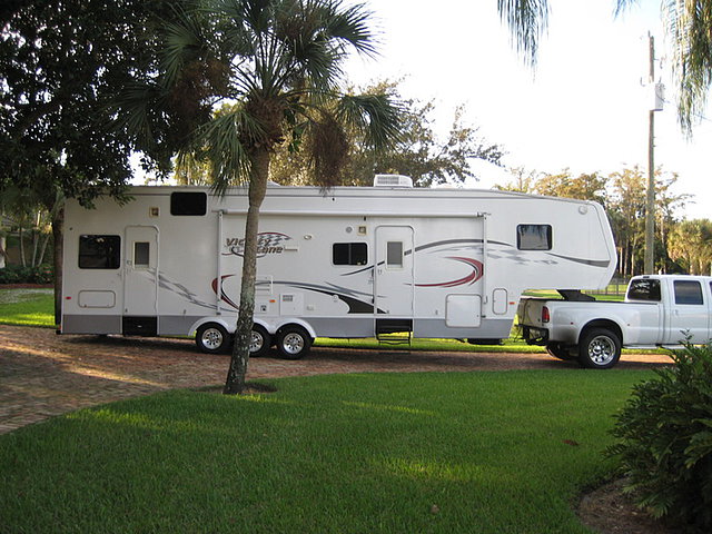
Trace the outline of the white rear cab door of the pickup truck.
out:
[[[692,343],[708,343],[709,306],[699,280],[672,280],[668,343],[679,344],[688,336]]]

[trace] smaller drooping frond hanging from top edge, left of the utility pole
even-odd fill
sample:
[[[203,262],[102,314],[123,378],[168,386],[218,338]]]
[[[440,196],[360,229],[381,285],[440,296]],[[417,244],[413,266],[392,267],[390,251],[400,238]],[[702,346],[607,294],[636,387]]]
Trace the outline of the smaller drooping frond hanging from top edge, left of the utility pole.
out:
[[[536,65],[538,41],[548,26],[547,0],[497,0],[500,17],[512,32],[516,49]]]

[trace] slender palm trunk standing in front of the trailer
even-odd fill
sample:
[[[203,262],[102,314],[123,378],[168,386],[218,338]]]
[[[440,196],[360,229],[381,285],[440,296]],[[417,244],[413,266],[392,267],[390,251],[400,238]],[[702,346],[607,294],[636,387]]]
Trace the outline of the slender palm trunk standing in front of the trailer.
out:
[[[259,208],[267,190],[269,175],[269,151],[264,148],[255,149],[251,158],[249,181],[249,208],[245,221],[245,251],[243,256],[243,279],[240,286],[240,307],[237,315],[235,344],[233,357],[227,372],[225,395],[239,395],[245,390],[245,376],[249,362],[249,344],[253,334],[255,313],[255,279],[257,276],[257,238],[259,224]]]

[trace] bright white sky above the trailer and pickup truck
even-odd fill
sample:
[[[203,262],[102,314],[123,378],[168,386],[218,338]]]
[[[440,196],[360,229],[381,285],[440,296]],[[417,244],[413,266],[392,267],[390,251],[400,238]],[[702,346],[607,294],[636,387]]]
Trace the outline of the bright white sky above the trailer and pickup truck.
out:
[[[465,121],[504,147],[506,167],[573,174],[647,168],[649,32],[655,38],[656,79],[665,85],[655,113],[655,165],[680,175],[675,192],[694,195],[681,211],[710,218],[712,121],[701,119],[691,140],[678,125],[671,65],[659,0],[641,0],[613,16],[613,0],[550,0],[550,29],[538,62],[528,68],[500,20],[496,0],[369,0],[379,56],[354,58],[349,80],[403,79],[404,98],[435,100],[436,129],[445,135],[457,105]],[[712,110],[709,113],[712,119]],[[477,165],[475,187],[510,181]]]

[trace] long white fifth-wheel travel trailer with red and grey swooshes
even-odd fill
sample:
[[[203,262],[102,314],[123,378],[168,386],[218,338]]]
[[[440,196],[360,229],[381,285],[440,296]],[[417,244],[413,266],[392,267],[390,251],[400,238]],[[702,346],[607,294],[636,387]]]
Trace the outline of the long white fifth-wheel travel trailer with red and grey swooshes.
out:
[[[61,333],[195,335],[230,344],[247,196],[134,187],[65,211]],[[259,219],[253,355],[319,337],[502,339],[526,289],[596,289],[616,254],[591,201],[476,189],[270,185]]]

